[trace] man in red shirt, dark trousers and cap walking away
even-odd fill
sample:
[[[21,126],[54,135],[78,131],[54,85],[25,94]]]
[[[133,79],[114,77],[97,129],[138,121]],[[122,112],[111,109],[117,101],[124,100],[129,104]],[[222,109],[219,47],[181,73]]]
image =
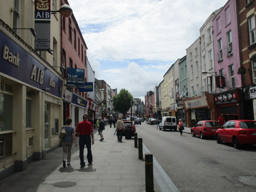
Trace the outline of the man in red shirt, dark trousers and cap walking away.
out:
[[[83,115],[83,121],[76,125],[76,134],[79,136],[79,157],[81,167],[85,167],[84,162],[84,145],[87,148],[87,160],[92,164],[92,150],[91,146],[94,144],[94,134],[92,124],[88,121],[88,116]],[[92,136],[92,144],[91,144]]]

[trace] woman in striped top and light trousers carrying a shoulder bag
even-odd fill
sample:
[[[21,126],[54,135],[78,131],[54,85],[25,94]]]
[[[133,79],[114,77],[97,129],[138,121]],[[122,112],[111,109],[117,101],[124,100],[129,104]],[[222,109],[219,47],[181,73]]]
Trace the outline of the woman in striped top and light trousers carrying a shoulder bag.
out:
[[[71,126],[71,123],[72,123],[72,119],[67,118],[66,122],[65,122],[66,125],[62,127],[66,131],[65,136],[62,138],[63,167],[66,167],[66,160],[67,160],[67,165],[71,164],[70,160],[71,160],[71,149],[72,149],[72,145],[73,145],[73,140],[75,141],[75,146],[77,147],[75,130],[74,130],[74,127]]]

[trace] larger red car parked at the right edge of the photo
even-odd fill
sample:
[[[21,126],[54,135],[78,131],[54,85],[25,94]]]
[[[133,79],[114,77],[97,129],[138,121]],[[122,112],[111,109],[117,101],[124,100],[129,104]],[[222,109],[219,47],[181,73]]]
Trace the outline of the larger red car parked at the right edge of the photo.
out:
[[[256,144],[256,121],[230,120],[216,131],[217,143],[222,141],[232,143],[234,148],[242,144]]]

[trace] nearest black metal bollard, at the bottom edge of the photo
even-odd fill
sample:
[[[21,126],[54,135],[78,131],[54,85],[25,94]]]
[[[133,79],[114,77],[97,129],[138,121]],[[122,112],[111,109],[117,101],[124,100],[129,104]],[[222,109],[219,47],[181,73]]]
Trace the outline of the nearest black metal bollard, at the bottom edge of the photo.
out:
[[[153,155],[145,154],[145,183],[146,192],[154,192]]]

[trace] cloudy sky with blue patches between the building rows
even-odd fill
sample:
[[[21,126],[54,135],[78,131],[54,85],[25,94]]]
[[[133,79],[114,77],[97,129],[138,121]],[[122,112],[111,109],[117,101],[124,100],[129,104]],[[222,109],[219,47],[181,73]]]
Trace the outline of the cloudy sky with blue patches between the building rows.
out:
[[[68,0],[95,78],[145,100],[226,0]]]

